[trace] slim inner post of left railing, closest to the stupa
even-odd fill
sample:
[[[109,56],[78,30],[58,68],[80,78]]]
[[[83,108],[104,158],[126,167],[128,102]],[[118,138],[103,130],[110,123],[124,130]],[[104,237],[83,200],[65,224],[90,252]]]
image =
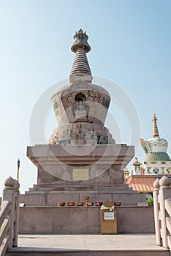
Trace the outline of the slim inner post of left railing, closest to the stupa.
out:
[[[19,222],[19,197],[20,197],[20,184],[19,182],[15,179],[15,222],[14,222],[14,240],[13,240],[13,247],[18,246],[18,222]]]

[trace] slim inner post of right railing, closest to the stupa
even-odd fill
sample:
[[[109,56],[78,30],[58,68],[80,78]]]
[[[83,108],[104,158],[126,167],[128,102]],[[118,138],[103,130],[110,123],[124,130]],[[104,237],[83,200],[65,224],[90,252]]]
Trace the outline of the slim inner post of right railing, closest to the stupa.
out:
[[[154,214],[154,224],[156,230],[156,244],[161,246],[161,236],[160,236],[160,220],[159,220],[159,178],[153,182],[153,214]]]

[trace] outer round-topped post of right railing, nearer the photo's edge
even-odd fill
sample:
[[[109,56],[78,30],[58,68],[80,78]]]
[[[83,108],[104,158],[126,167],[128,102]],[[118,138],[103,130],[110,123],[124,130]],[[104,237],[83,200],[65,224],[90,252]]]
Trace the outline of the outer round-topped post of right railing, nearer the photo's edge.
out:
[[[168,248],[167,241],[167,225],[166,225],[166,210],[164,200],[170,197],[170,178],[163,176],[159,181],[159,203],[160,203],[160,213],[161,213],[161,238],[162,246]]]

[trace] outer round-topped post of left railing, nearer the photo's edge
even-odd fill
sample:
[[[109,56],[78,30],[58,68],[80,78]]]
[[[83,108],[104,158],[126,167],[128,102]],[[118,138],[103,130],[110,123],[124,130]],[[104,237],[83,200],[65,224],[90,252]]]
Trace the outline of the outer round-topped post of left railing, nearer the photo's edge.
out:
[[[9,241],[8,249],[12,248],[13,238],[14,238],[14,220],[15,220],[15,180],[9,176],[4,181],[4,190],[2,195],[2,200],[7,200],[11,203],[9,212]]]

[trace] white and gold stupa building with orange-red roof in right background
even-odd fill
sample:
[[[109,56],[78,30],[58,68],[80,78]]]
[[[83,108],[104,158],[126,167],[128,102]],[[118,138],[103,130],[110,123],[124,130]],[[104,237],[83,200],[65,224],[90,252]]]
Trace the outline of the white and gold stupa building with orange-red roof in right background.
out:
[[[153,138],[144,140],[140,138],[140,144],[145,151],[144,162],[139,162],[136,158],[131,176],[126,176],[126,184],[137,192],[153,192],[153,182],[156,178],[171,175],[171,160],[167,154],[167,140],[160,138],[157,127],[157,118],[153,114]],[[129,172],[130,173],[130,172]]]

